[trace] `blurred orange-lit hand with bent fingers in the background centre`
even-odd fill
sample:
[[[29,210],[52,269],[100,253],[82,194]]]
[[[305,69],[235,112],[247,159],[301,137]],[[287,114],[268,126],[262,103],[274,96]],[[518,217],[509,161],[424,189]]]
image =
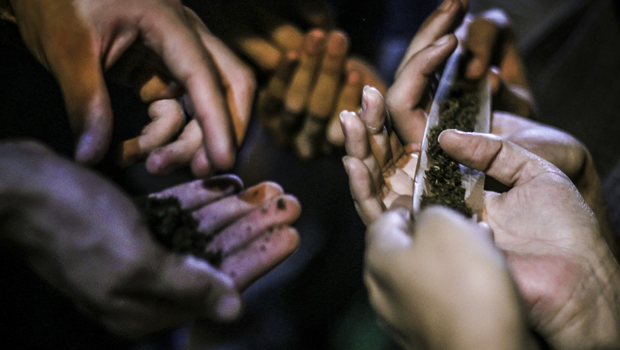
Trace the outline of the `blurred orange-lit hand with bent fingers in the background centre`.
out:
[[[284,57],[261,91],[263,127],[278,144],[293,146],[300,158],[329,152],[329,144],[342,146],[337,111],[359,109],[364,80],[380,83],[366,64],[346,59],[347,48],[344,33],[312,30],[305,36],[301,57],[297,59],[295,52]]]

